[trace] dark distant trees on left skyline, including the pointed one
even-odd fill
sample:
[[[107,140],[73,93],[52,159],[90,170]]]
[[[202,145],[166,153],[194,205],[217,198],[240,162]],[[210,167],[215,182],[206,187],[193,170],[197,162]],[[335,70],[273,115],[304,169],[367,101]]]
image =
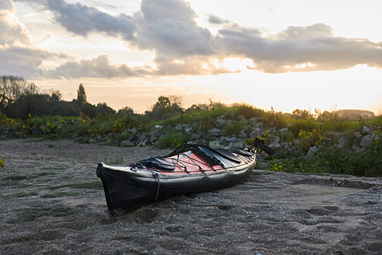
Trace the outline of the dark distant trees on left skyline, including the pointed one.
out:
[[[180,96],[159,96],[157,103],[152,105],[145,116],[150,119],[167,119],[185,112],[182,107],[183,98]],[[200,105],[192,105],[190,109],[202,108]],[[62,94],[58,90],[49,89],[41,92],[33,83],[17,76],[0,77],[0,112],[9,118],[62,116],[77,117],[80,112],[88,117],[97,115],[129,114],[136,115],[131,107],[124,107],[116,112],[106,103],[93,105],[86,99],[86,91],[83,84],[77,89],[77,99],[72,101],[62,100]]]

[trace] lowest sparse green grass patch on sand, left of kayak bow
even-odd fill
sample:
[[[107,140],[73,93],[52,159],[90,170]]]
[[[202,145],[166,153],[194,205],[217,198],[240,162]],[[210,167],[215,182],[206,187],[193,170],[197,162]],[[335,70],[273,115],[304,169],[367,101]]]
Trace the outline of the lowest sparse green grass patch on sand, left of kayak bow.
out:
[[[44,216],[65,217],[76,212],[70,207],[23,208],[16,211],[18,217],[26,221],[34,221],[34,219]]]

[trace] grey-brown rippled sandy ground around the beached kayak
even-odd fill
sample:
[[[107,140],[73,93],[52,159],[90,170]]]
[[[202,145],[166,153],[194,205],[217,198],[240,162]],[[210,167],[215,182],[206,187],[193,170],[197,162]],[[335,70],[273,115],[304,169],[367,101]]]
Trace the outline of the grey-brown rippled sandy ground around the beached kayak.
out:
[[[0,140],[0,254],[381,254],[382,179],[256,169],[110,218],[98,162],[169,150]]]

